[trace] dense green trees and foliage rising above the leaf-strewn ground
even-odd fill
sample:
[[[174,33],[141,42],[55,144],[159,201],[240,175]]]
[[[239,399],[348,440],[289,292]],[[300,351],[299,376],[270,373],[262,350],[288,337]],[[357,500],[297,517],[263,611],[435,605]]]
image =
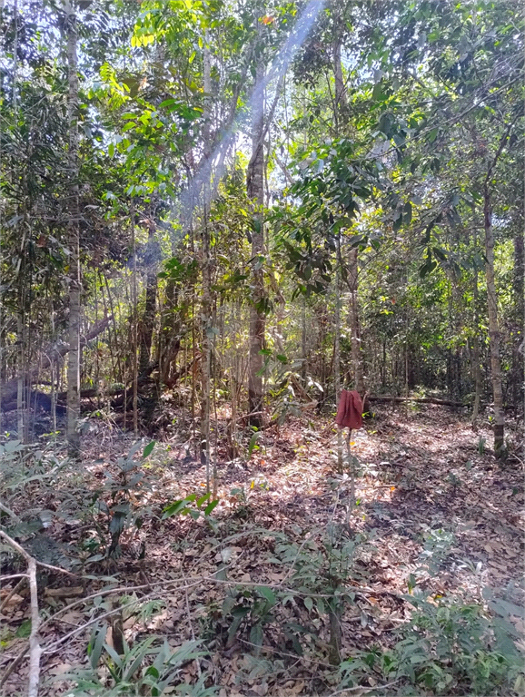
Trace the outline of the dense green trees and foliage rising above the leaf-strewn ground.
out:
[[[79,447],[83,395],[136,431],[193,370],[204,431],[212,390],[259,427],[294,383],[347,385],[474,422],[490,404],[503,452],[523,399],[521,20],[473,0],[5,5],[20,435],[53,398]]]

